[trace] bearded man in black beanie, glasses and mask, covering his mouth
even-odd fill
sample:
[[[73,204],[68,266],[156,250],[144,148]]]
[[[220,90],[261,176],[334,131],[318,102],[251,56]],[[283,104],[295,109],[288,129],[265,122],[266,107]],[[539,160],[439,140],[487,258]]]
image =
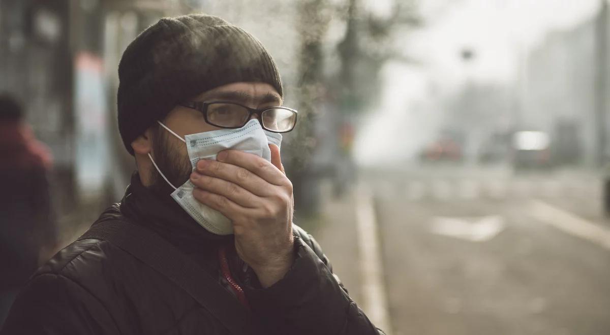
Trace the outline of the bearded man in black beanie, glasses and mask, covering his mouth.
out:
[[[229,334],[240,316],[255,320],[249,333],[379,333],[292,224],[278,145],[296,111],[280,107],[259,41],[213,16],[164,18],[127,47],[119,78],[119,129],[137,172],[91,230],[121,222],[162,236],[220,298],[183,289],[197,269],[165,276],[171,264],[151,267],[129,243],[84,238],[30,278],[2,334]],[[164,243],[148,249],[151,263],[171,251]]]

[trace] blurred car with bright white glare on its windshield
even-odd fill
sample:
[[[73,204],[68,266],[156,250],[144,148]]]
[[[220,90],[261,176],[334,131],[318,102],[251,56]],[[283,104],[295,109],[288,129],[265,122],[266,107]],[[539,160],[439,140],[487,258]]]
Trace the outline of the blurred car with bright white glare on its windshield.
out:
[[[515,132],[512,164],[515,169],[546,169],[551,166],[551,139],[545,132]]]

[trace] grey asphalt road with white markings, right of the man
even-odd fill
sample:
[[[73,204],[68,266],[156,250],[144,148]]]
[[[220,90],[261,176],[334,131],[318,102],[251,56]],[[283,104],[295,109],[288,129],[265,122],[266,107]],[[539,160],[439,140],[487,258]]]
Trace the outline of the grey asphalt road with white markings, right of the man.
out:
[[[365,171],[360,183],[374,203],[392,334],[610,333],[610,225],[594,175],[420,168]],[[347,242],[352,198],[328,200],[316,236],[370,315]]]

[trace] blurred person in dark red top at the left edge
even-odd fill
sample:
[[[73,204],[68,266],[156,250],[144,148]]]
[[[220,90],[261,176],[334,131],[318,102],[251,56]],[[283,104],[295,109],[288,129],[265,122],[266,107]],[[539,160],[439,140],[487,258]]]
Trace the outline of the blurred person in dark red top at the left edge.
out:
[[[0,157],[1,325],[19,289],[57,243],[47,180],[51,155],[9,94],[0,94]]]

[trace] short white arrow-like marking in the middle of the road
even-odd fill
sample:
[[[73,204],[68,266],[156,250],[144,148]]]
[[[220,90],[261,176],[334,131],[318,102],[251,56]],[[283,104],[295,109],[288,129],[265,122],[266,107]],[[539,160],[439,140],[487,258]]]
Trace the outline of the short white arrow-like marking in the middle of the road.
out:
[[[464,239],[471,242],[485,242],[495,238],[504,230],[501,216],[483,217],[434,217],[430,230],[434,234]]]

